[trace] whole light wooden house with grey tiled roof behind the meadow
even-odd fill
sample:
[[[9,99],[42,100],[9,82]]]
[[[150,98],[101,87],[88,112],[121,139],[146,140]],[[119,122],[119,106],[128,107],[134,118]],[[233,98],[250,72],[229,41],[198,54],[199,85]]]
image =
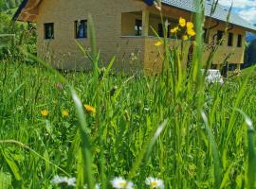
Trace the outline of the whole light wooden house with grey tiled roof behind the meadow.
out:
[[[211,7],[212,0],[205,0],[203,60],[208,59],[212,43],[223,38],[213,66],[228,61],[240,68],[244,62],[246,33],[255,32],[256,27],[231,13],[227,28],[229,9],[218,5],[210,14]],[[178,25],[180,17],[192,21],[196,8],[193,0],[162,0],[161,11],[171,29]],[[158,39],[152,28],[162,37],[163,26],[153,0],[24,0],[13,20],[36,24],[39,58],[56,68],[83,70],[90,69],[91,62],[84,58],[75,41],[89,46],[88,14],[92,15],[96,28],[102,64],[117,55],[117,69],[140,67],[150,72],[161,69],[159,46],[155,46]],[[176,39],[169,33],[168,37],[170,45],[174,45]],[[191,42],[186,43],[185,52]]]

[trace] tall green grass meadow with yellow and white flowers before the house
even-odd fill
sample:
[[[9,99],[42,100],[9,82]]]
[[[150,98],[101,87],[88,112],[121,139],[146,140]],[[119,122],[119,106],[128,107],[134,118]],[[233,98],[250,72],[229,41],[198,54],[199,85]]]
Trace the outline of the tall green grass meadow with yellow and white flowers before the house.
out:
[[[0,188],[255,188],[255,68],[206,83],[200,23],[190,70],[166,39],[157,76],[101,69],[97,52],[89,73],[2,60]]]

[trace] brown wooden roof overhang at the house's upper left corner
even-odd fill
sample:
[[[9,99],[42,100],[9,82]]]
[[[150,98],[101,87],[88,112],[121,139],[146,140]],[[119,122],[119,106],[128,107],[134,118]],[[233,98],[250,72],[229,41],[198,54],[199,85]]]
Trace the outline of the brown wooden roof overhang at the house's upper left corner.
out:
[[[23,0],[14,16],[13,21],[35,22],[38,15],[38,6],[42,0]]]

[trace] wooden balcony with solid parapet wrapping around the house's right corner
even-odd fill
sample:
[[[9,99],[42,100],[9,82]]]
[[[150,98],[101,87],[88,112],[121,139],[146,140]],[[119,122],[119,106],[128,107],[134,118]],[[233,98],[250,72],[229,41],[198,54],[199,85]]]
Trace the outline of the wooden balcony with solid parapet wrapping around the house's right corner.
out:
[[[184,15],[182,15],[184,16]],[[177,26],[178,21],[176,17],[164,16],[167,19],[171,27]],[[186,15],[185,15],[186,17]],[[189,19],[188,19],[189,20]],[[140,60],[146,70],[160,70],[162,64],[162,47],[155,46],[158,39],[155,37],[155,32],[159,36],[163,35],[163,29],[161,25],[161,19],[158,14],[150,9],[144,9],[140,12],[126,12],[122,13],[121,18],[121,36],[120,45],[122,49],[123,60],[133,60],[136,57]],[[154,32],[155,30],[155,32]],[[212,34],[211,36],[212,37]],[[169,38],[170,46],[180,44],[180,40]],[[184,43],[184,57],[187,58],[191,41]],[[209,43],[204,44],[203,63],[205,63],[209,56],[212,47]],[[230,56],[229,56],[230,55]],[[229,47],[227,45],[220,45],[216,54],[213,57],[213,63],[216,67],[219,67],[226,61],[229,56],[230,63],[241,64],[244,61],[244,48],[241,47]],[[187,60],[184,60],[184,65]]]

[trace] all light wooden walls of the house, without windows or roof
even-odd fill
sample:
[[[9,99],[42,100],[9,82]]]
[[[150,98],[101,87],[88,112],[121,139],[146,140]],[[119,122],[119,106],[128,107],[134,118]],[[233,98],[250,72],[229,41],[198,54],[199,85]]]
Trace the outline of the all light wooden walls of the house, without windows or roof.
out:
[[[40,14],[36,20],[39,57],[51,62],[57,68],[91,69],[92,63],[82,55],[75,42],[74,26],[75,21],[88,19],[90,13],[96,28],[97,45],[102,58],[101,65],[108,64],[114,56],[117,56],[114,64],[117,69],[127,71],[139,66],[146,70],[161,70],[161,50],[154,45],[157,40],[135,37],[135,20],[141,18],[142,9],[146,9],[145,4],[142,1],[135,0],[125,0],[125,3],[120,0],[44,0],[39,7]],[[157,15],[158,10],[154,7],[149,10],[151,12],[150,25],[154,26],[157,31],[160,20],[155,15]],[[172,17],[174,20],[181,16],[187,20],[192,20],[192,14],[181,9],[164,7],[163,12],[164,15],[167,15],[166,17]],[[54,40],[44,39],[45,23],[54,23]],[[213,25],[214,23],[210,23],[210,26]],[[218,29],[224,30],[225,25],[211,29],[210,39]],[[234,33],[234,44],[236,44],[238,33],[245,38],[245,30],[239,27],[230,31]],[[151,29],[149,35],[154,35]],[[89,48],[89,38],[88,34],[88,39],[77,41]],[[229,52],[233,52],[234,55],[230,57],[229,61],[243,63],[244,47],[228,47],[227,43],[225,42],[223,46],[220,46],[218,56],[214,57],[213,62],[220,64]],[[170,44],[174,45],[174,41],[171,40]],[[209,57],[210,50],[207,50],[210,49],[209,45],[206,44],[204,62]],[[188,49],[189,46],[190,42],[187,42],[185,48]]]

